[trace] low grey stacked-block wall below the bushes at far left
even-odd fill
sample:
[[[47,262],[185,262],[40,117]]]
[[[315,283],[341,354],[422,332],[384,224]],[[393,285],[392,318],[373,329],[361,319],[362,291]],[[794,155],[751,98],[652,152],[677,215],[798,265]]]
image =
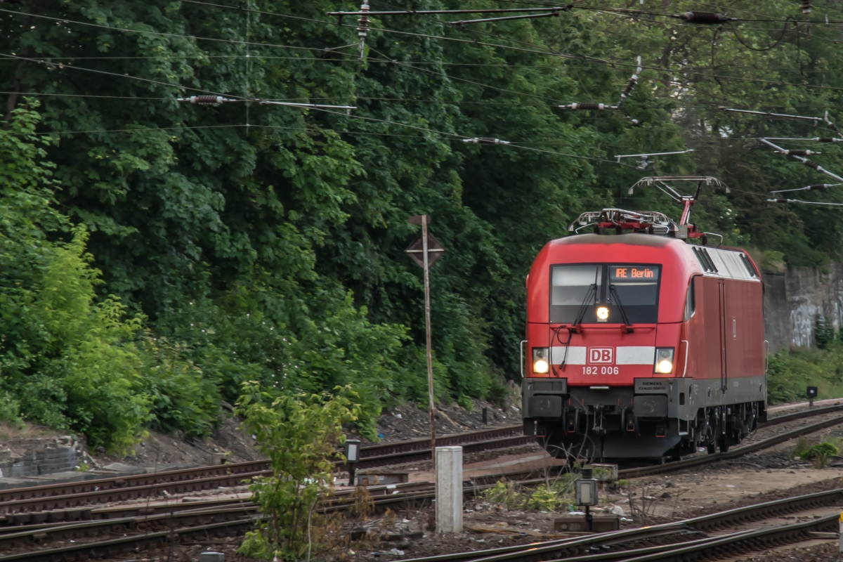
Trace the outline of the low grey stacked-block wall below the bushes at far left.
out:
[[[86,458],[72,436],[17,437],[0,445],[0,478],[22,478],[73,470]]]

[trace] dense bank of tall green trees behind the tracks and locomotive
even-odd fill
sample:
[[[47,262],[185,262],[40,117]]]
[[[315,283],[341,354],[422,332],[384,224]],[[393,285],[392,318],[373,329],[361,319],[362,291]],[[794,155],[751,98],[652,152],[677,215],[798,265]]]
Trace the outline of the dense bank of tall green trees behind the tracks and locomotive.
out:
[[[138,424],[207,432],[215,400],[234,401],[246,381],[288,395],[351,384],[373,436],[384,405],[427,402],[421,271],[402,250],[418,235],[406,217],[428,213],[448,248],[431,276],[436,396],[495,399],[502,378],[518,377],[524,277],[540,248],[582,211],[679,212],[658,190],[628,195],[642,173],[615,154],[694,148],[645,174],[725,180],[729,193],[703,186],[693,220],[757,249],[765,269],[840,258],[837,211],[765,201],[821,177],[744,140],[827,131],[719,109],[840,120],[835,25],[808,28],[800,16],[774,45],[778,24],[712,29],[611,11],[628,4],[470,29],[373,17],[365,62],[325,50],[357,41],[354,26],[325,23],[325,12],[349,8],[332,0],[10,8],[0,51],[55,63],[0,65],[15,108],[0,131],[0,387],[33,420],[123,447]],[[413,5],[468,7],[510,4]],[[669,13],[694,9],[677,0]],[[742,0],[730,10],[784,22],[797,5]],[[819,0],[814,10],[839,7]],[[615,103],[637,55],[643,72],[622,110],[559,109]],[[201,91],[357,110],[176,101]],[[818,162],[843,169],[840,148],[824,145]],[[804,193],[843,202],[843,190]],[[87,242],[69,245],[82,233]],[[86,253],[94,260],[82,267]],[[67,291],[42,324],[38,307],[52,298],[42,287],[65,273]],[[56,324],[61,314],[73,321]],[[771,399],[802,393],[796,367],[836,384],[822,357],[810,367],[807,356],[776,354]],[[100,414],[111,400],[126,413]]]

